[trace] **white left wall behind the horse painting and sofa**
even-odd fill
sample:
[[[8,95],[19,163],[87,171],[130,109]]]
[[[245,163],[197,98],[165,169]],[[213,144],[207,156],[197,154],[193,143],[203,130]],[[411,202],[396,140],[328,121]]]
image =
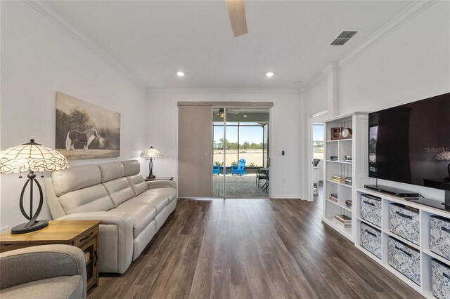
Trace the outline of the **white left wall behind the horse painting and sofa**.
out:
[[[121,113],[121,157],[72,160],[72,166],[135,158],[147,146],[144,88],[126,79],[32,6],[1,1],[2,150],[30,138],[55,146],[56,91]],[[39,181],[44,185],[43,179]],[[19,210],[24,183],[25,178],[20,180],[18,175],[1,175],[1,227],[25,222]],[[51,218],[46,204],[39,218]]]

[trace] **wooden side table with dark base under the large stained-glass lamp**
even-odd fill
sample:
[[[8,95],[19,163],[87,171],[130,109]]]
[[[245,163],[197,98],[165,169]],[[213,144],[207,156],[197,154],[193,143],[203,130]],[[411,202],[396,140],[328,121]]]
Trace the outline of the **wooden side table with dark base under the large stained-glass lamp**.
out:
[[[98,286],[98,220],[50,220],[49,226],[26,234],[0,234],[0,252],[45,244],[81,248],[86,257],[87,289]]]

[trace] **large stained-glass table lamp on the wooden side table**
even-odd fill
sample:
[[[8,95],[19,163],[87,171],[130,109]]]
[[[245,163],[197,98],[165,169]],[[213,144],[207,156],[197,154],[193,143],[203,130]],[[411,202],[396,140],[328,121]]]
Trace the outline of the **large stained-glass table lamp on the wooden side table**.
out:
[[[43,171],[60,171],[69,168],[69,161],[63,154],[53,150],[49,147],[44,147],[39,143],[34,142],[34,139],[23,145],[16,147],[10,147],[0,152],[0,173],[20,173],[19,178],[22,178],[22,173],[28,171],[25,185],[20,193],[20,211],[29,220],[27,223],[23,223],[13,227],[11,234],[24,234],[26,232],[33,232],[34,230],[40,230],[49,225],[49,220],[37,220],[39,213],[41,212],[44,197],[42,194],[42,188],[39,182],[36,180],[35,172]],[[41,175],[43,178],[44,175]],[[23,206],[23,197],[27,185],[30,184],[30,214],[25,212]],[[33,209],[33,188],[34,184],[37,185],[39,190],[39,205],[36,211]]]

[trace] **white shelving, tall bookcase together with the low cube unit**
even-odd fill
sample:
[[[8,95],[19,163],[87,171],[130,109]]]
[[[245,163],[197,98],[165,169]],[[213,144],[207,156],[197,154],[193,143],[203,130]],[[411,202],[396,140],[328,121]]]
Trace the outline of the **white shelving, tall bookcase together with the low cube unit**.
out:
[[[331,140],[331,128],[345,127],[352,128],[351,139]],[[386,270],[404,281],[405,284],[416,290],[425,298],[435,298],[432,295],[432,258],[450,267],[450,260],[443,258],[430,251],[430,217],[433,215],[450,219],[450,212],[439,210],[417,204],[413,201],[406,201],[399,197],[392,197],[389,194],[365,189],[363,186],[373,183],[368,178],[368,114],[365,112],[355,112],[342,117],[335,117],[325,122],[326,142],[324,145],[324,184],[323,184],[323,215],[322,221],[342,234],[347,239],[354,242],[354,245],[363,253],[379,263]],[[338,156],[338,161],[330,159],[330,156]],[[345,156],[352,156],[352,162],[345,161]],[[331,180],[333,175],[352,177],[352,185]],[[338,202],[330,200],[330,194],[338,193]],[[381,226],[374,225],[360,216],[361,194],[371,194],[381,199],[382,221]],[[345,200],[352,200],[352,208],[345,206]],[[403,237],[390,232],[389,211],[390,204],[397,203],[404,206],[416,208],[420,217],[420,244],[404,239]],[[352,218],[352,228],[342,229],[333,223],[336,214],[344,214]],[[360,246],[361,223],[365,223],[381,232],[381,252],[382,258],[378,258],[373,253]],[[404,244],[415,248],[420,252],[420,286],[408,277],[401,274],[394,267],[389,265],[387,241],[393,237]]]

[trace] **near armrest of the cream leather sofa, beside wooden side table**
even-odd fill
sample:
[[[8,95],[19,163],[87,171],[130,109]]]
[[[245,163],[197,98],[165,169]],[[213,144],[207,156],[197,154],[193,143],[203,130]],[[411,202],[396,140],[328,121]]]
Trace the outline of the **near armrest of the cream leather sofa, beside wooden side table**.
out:
[[[101,220],[99,227],[99,252],[104,253],[117,247],[117,269],[111,270],[115,265],[105,265],[108,269],[104,271],[103,259],[100,260],[98,266],[101,272],[117,271],[123,274],[131,264],[133,259],[133,220],[127,213],[113,211],[86,212],[65,215],[57,220]],[[111,237],[111,227],[113,231],[117,231],[117,239]],[[114,242],[114,244],[111,244]],[[117,244],[115,244],[117,242]]]

